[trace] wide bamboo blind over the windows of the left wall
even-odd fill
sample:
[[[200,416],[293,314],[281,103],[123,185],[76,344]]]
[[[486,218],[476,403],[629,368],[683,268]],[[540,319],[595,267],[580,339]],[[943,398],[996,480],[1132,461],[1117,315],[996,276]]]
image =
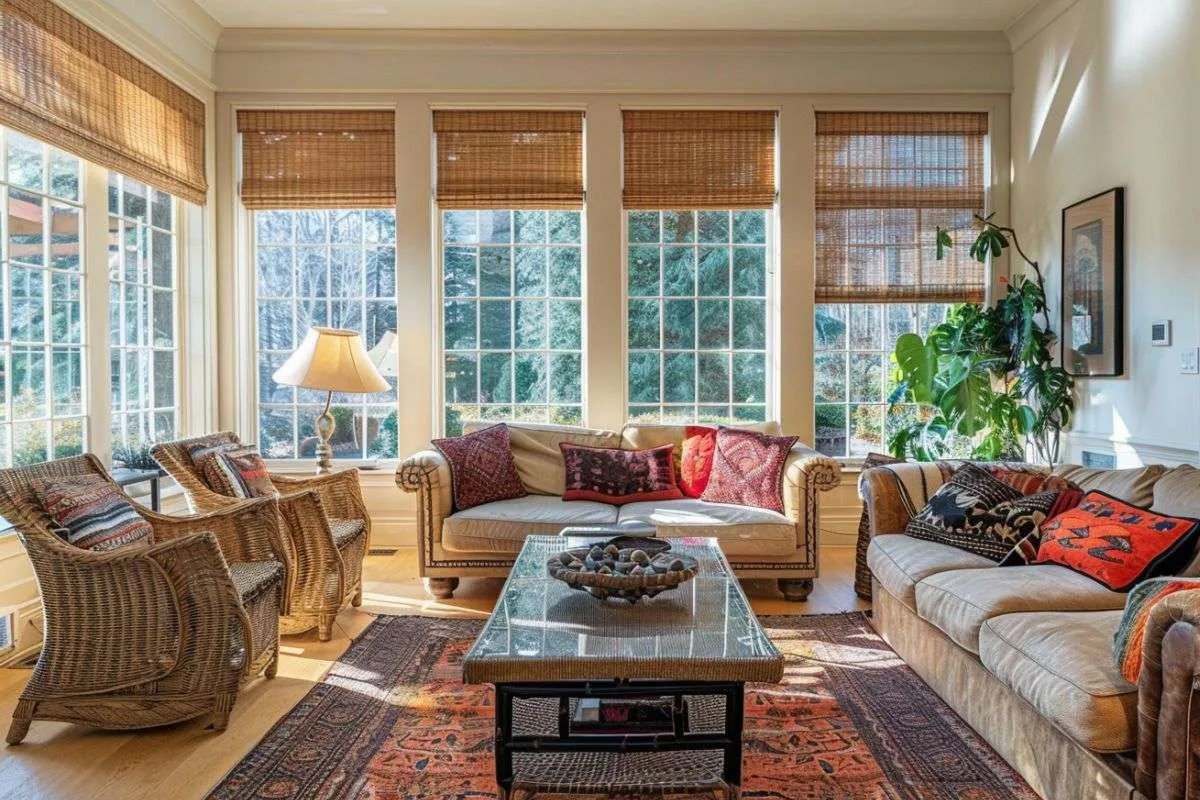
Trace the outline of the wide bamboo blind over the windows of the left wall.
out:
[[[0,124],[204,203],[204,103],[50,0],[0,2]]]

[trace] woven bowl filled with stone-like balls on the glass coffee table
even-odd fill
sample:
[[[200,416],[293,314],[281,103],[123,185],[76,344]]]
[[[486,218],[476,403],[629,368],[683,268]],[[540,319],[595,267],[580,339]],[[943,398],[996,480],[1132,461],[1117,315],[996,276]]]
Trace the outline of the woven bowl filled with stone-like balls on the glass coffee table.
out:
[[[604,558],[595,558],[598,549]],[[571,589],[587,591],[598,600],[619,599],[636,603],[642,597],[654,597],[691,581],[696,577],[698,564],[690,555],[672,553],[670,543],[662,540],[618,536],[607,542],[565,549],[546,561],[546,571],[550,577]]]

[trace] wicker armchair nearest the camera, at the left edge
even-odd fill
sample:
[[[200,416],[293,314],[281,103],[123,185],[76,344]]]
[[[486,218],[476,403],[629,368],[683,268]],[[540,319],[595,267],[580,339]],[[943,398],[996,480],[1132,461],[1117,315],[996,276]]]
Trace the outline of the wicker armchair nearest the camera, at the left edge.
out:
[[[224,730],[242,680],[275,676],[284,567],[269,503],[168,517],[134,504],[154,545],[80,549],[52,530],[30,483],[108,473],[90,455],[0,470],[0,513],[29,553],[44,640],[8,744],[34,720],[134,729],[212,715]],[[256,533],[264,531],[264,533]]]

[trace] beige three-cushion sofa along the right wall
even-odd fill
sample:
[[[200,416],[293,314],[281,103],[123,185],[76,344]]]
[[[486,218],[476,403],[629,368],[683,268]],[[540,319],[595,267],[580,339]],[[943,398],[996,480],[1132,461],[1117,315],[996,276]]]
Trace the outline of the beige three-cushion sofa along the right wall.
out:
[[[1200,471],[1190,467],[1055,473],[1163,513],[1200,517]],[[998,567],[902,535],[911,509],[947,474],[901,464],[862,476],[874,622],[883,638],[1042,796],[1194,800],[1200,591],[1156,609],[1141,684],[1133,686],[1112,658],[1126,595],[1066,567]]]

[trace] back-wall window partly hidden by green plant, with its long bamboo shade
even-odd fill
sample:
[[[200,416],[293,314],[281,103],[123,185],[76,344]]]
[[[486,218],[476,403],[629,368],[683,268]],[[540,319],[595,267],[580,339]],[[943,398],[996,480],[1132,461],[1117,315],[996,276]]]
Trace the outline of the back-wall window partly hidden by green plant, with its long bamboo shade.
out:
[[[935,231],[984,210],[988,115],[817,114],[816,449],[860,458],[920,409],[889,405],[900,335],[929,333],[950,305],[978,302],[985,269],[970,236],[936,258]]]

